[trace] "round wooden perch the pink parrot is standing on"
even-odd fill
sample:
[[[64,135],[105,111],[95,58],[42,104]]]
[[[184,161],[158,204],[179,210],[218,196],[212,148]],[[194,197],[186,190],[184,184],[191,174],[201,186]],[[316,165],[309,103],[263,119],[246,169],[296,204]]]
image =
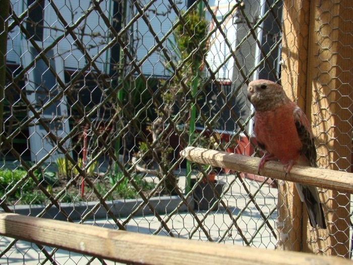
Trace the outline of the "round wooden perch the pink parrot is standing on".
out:
[[[212,165],[240,172],[257,175],[260,158],[243,154],[228,153],[189,146],[181,151],[181,156],[199,164]],[[340,192],[353,193],[353,174],[342,171],[312,168],[295,165],[285,176],[283,165],[268,161],[261,170],[261,175],[273,179],[298,182]]]

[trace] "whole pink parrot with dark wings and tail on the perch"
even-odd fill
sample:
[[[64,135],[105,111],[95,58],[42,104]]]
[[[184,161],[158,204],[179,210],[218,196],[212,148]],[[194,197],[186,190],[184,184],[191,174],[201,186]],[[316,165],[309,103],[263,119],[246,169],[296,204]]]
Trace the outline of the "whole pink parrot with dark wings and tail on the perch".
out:
[[[248,99],[255,109],[254,133],[264,150],[258,167],[278,160],[287,175],[294,164],[317,167],[314,136],[309,121],[283,88],[268,80],[255,80],[248,86]],[[295,183],[304,202],[312,227],[326,228],[325,217],[316,187]]]

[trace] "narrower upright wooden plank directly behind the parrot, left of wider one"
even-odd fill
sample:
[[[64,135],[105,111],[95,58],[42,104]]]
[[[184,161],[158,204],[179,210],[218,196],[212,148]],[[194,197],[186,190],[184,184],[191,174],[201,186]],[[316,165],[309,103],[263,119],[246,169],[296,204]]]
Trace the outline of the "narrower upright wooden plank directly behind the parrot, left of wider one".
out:
[[[287,96],[305,110],[309,46],[310,1],[283,1],[281,85]],[[278,185],[277,248],[301,251],[303,203],[293,183]]]

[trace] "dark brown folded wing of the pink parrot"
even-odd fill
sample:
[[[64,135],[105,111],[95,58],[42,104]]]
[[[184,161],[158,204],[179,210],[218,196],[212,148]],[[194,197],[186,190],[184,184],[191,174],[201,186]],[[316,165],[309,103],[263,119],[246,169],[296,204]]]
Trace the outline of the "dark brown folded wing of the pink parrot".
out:
[[[314,136],[308,118],[298,106],[293,111],[293,117],[296,123],[298,136],[303,144],[301,155],[304,155],[308,159],[311,167],[317,168],[317,154],[314,143]]]

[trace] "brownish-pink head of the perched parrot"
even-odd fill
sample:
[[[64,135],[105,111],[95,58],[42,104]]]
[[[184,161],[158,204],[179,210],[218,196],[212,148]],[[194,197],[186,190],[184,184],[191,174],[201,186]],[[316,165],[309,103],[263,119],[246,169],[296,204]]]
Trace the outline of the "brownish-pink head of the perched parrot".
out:
[[[256,111],[269,111],[289,100],[280,85],[263,79],[249,83],[248,99]]]

